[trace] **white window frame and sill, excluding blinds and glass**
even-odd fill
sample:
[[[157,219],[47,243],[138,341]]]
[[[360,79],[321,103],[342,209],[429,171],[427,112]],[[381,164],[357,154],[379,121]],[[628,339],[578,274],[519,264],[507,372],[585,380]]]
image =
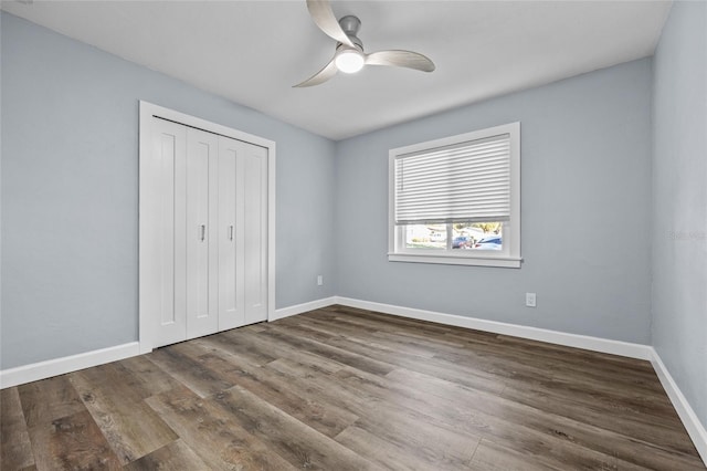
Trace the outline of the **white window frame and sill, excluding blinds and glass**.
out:
[[[395,159],[405,154],[431,151],[435,148],[484,139],[500,134],[509,135],[510,143],[510,219],[503,223],[503,249],[496,251],[454,250],[454,233],[447,223],[447,247],[441,249],[407,249],[404,226],[395,224]],[[509,123],[471,133],[397,147],[388,153],[388,261],[441,263],[452,265],[520,268],[520,123]],[[489,221],[492,222],[492,221]]]

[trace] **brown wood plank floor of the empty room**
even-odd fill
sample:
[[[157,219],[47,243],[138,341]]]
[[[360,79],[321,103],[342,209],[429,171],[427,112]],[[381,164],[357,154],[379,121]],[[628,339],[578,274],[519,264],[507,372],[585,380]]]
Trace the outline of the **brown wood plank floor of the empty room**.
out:
[[[341,306],[1,394],[3,471],[705,469],[646,362]]]

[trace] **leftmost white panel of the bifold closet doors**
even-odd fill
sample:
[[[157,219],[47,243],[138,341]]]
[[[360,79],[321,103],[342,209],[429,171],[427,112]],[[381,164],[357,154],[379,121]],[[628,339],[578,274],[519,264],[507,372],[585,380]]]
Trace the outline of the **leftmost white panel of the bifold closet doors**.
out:
[[[187,336],[187,128],[152,118],[150,169],[158,187],[159,220],[155,221],[155,245],[159,257],[156,276],[159,300],[150,303],[158,311],[156,344],[181,342]]]

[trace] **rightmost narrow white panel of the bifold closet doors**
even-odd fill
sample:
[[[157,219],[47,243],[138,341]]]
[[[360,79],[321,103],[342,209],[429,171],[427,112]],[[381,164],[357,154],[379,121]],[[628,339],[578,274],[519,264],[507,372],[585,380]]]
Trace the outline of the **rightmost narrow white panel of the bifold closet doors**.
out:
[[[243,155],[245,323],[267,320],[267,149],[245,145]]]

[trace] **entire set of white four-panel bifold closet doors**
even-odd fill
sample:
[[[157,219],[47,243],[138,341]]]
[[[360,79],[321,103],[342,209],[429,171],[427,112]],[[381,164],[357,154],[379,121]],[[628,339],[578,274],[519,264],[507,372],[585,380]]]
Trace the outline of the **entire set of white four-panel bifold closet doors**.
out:
[[[156,117],[152,127],[155,346],[266,321],[267,149]]]

